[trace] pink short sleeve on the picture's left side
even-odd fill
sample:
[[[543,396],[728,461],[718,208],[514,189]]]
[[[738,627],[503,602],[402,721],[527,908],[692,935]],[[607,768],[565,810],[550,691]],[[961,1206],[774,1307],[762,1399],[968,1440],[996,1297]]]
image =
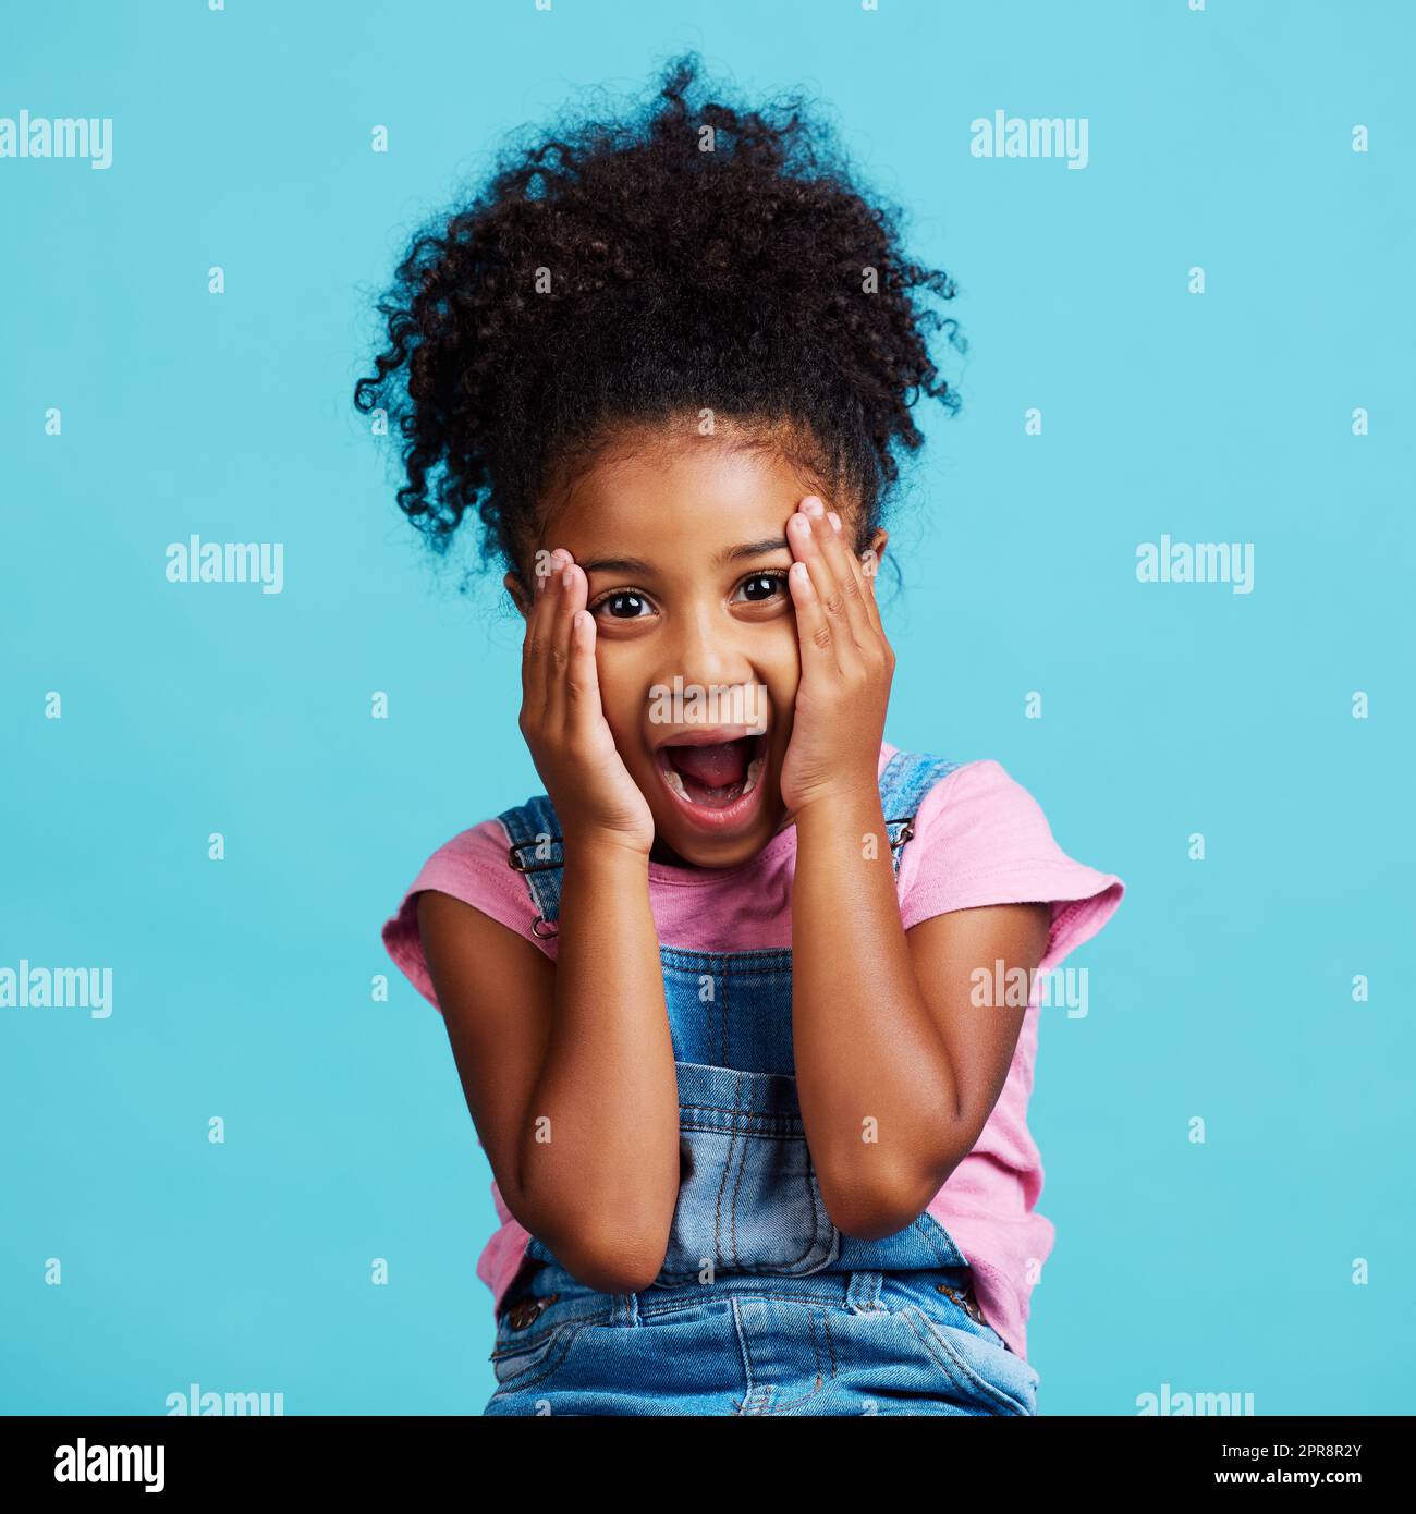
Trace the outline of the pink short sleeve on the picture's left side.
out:
[[[526,936],[527,940],[554,957],[554,937],[541,940],[532,934],[536,905],[532,902],[522,874],[507,864],[507,839],[500,821],[483,821],[439,846],[423,864],[418,877],[403,895],[398,908],[383,924],[383,945],[404,977],[442,1013],[418,934],[418,895],[427,889],[450,893],[463,904]]]

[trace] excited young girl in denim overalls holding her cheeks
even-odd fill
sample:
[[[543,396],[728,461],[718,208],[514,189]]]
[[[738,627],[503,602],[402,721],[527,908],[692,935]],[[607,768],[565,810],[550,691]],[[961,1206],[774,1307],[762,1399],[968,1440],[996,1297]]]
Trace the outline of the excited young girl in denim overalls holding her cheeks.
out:
[[[545,793],[383,933],[495,1176],[486,1413],[1034,1414],[1025,974],[1122,886],[997,763],[884,740],[881,518],[910,404],[954,403],[916,303],[953,285],[800,109],[695,71],[419,236],[357,389],[526,618]]]

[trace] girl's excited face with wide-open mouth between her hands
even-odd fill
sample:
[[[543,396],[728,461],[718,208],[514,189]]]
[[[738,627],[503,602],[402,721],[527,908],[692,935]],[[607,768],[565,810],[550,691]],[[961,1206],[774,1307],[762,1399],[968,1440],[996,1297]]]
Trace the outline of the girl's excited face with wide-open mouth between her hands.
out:
[[[600,701],[657,861],[731,868],[791,821],[778,775],[801,659],[786,522],[809,494],[772,451],[660,436],[580,474],[547,522],[539,545],[589,580]],[[825,503],[854,536],[851,510]],[[884,542],[877,530],[877,556]]]

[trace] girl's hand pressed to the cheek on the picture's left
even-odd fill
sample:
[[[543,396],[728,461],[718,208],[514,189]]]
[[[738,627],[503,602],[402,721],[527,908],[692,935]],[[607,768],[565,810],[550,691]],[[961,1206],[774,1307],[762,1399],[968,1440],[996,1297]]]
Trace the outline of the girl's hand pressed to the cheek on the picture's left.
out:
[[[521,646],[521,734],[563,840],[612,842],[648,857],[654,816],[600,704],[595,618],[585,609],[589,580],[563,547],[550,559],[538,553],[535,568],[544,565],[548,571],[535,572]]]

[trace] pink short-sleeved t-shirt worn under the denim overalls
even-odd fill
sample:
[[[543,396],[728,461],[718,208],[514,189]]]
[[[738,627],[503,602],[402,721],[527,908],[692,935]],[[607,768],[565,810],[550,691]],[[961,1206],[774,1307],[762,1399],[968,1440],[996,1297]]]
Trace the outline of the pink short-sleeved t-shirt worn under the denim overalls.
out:
[[[881,743],[880,772],[894,754],[889,742]],[[650,908],[660,943],[710,952],[791,946],[795,861],[797,828],[789,825],[739,868],[650,863]],[[507,866],[506,833],[498,821],[483,821],[429,857],[383,927],[389,955],[435,1008],[438,998],[418,939],[415,896],[424,889],[474,905],[554,960],[556,937],[532,934],[536,905],[526,878]],[[922,799],[915,834],[900,857],[898,892],[906,930],[934,914],[986,904],[1053,907],[1046,954],[1003,1093],[974,1149],[928,1205],[974,1269],[974,1293],[987,1322],[1027,1360],[1033,1278],[1054,1238],[1053,1222],[1034,1208],[1043,1172],[1027,1126],[1039,1016],[1065,1014],[1066,1005],[1080,998],[1068,998],[1063,975],[1050,974],[1106,925],[1124,884],[1112,874],[1072,861],[1053,839],[1036,799],[997,762],[969,762],[939,780]],[[512,1217],[495,1181],[492,1202],[501,1228],[482,1252],[477,1275],[500,1305],[529,1234]]]

